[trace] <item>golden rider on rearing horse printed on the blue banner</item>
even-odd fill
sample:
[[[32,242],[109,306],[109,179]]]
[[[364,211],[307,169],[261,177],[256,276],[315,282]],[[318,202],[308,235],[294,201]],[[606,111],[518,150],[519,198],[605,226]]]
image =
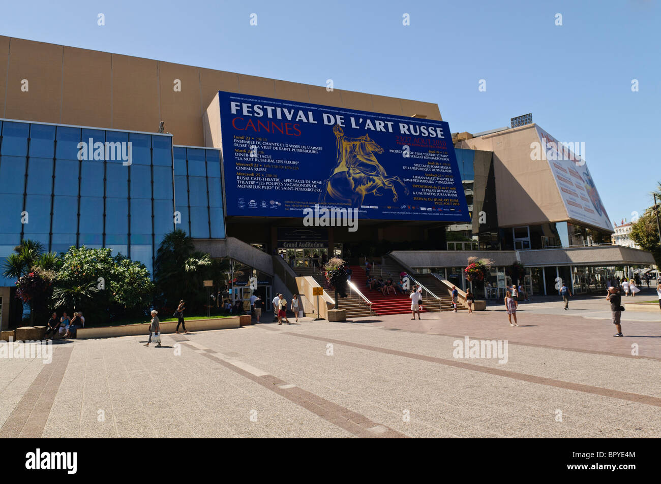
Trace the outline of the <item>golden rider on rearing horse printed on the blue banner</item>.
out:
[[[337,160],[331,176],[325,182],[324,191],[319,195],[320,202],[339,201],[358,208],[365,195],[373,193],[381,196],[383,193],[378,190],[383,188],[393,192],[393,203],[396,203],[399,195],[393,182],[401,184],[407,195],[410,193],[399,176],[388,176],[385,172],[374,156],[374,153],[383,153],[383,148],[370,139],[368,134],[352,138],[344,136],[344,130],[338,125],[334,125],[332,130],[336,137]]]

